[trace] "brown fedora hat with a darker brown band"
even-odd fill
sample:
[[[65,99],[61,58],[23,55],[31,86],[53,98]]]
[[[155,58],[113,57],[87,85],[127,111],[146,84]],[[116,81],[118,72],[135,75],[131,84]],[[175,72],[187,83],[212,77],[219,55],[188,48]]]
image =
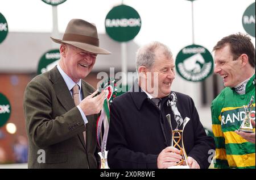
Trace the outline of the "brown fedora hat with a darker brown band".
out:
[[[106,49],[100,48],[97,28],[94,24],[82,19],[71,19],[64,32],[62,40],[51,37],[55,43],[67,43],[84,51],[99,54],[111,54]]]

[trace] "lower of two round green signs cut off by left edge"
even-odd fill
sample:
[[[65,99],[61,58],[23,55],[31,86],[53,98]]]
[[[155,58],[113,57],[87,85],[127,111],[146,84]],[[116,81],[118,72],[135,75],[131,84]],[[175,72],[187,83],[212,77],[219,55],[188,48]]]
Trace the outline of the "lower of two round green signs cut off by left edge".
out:
[[[0,127],[4,125],[7,120],[10,118],[11,114],[11,105],[9,100],[0,93]]]

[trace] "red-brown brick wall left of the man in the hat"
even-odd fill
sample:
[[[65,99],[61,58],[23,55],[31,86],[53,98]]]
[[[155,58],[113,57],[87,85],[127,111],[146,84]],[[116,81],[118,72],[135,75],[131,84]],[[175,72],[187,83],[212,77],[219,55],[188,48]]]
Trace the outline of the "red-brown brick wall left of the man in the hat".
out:
[[[30,81],[30,74],[0,74],[0,92],[4,94],[11,104],[11,115],[7,123],[16,125],[16,133],[11,135],[6,131],[6,126],[0,127],[2,139],[0,146],[5,150],[6,161],[13,162],[13,145],[19,135],[27,137],[24,113],[23,113],[23,94],[27,83]]]

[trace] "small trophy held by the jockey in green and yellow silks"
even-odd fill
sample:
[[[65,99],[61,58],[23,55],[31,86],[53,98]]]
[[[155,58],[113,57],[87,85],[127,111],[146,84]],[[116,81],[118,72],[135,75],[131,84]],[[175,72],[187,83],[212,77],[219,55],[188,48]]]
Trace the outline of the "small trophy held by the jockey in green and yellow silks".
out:
[[[254,96],[251,97],[251,100],[247,104],[247,106],[243,106],[243,108],[245,108],[245,119],[243,119],[243,122],[240,128],[238,129],[238,131],[254,132],[253,125],[251,125],[251,110],[253,109],[253,101],[254,101]]]

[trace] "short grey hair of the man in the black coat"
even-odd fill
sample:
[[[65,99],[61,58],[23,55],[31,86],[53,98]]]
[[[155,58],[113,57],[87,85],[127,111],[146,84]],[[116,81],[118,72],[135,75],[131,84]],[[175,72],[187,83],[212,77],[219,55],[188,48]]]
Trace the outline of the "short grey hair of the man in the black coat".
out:
[[[172,52],[167,45],[160,43],[159,41],[152,41],[139,48],[136,53],[136,70],[138,72],[139,66],[146,66],[146,68],[151,68],[155,62],[155,52],[158,49],[162,49],[163,54],[171,58]]]

